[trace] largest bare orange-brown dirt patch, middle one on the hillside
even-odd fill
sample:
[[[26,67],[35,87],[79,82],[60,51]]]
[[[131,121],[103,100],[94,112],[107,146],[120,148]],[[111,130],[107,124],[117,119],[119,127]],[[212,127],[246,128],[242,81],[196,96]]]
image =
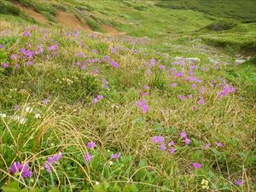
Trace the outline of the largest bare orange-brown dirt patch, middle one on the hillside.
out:
[[[56,16],[56,19],[58,23],[61,23],[62,26],[71,27],[73,29],[79,28],[85,32],[92,32],[90,27],[83,25],[75,15],[68,14],[65,11],[60,11]]]

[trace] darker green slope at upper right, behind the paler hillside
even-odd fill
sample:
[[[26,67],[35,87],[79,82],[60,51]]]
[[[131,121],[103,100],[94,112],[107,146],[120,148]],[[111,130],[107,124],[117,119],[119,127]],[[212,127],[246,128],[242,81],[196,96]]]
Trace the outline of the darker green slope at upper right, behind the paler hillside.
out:
[[[230,54],[254,54],[256,47],[256,2],[245,1],[160,1],[161,8],[193,10],[212,16],[212,23],[196,33],[207,44],[226,49]],[[249,23],[249,24],[247,24]],[[207,30],[206,30],[207,29]]]

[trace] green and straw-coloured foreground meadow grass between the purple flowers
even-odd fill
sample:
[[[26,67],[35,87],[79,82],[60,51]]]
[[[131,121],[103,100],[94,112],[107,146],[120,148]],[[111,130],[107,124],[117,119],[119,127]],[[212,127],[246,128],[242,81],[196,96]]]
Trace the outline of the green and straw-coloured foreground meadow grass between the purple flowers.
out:
[[[1,186],[9,183],[3,191],[18,188],[17,183],[9,180],[18,180],[20,189],[37,186],[40,191],[48,191],[58,184],[61,185],[60,191],[71,188],[73,191],[95,192],[195,191],[202,188],[202,179],[210,182],[211,190],[247,191],[255,187],[255,118],[252,111],[255,67],[251,64],[222,65],[226,62],[224,58],[216,70],[215,66],[208,65],[207,57],[212,57],[212,54],[205,53],[200,56],[202,61],[196,64],[199,68],[195,71],[195,76],[203,83],[191,90],[190,84],[182,79],[166,78],[167,71],[161,71],[158,66],[151,68],[151,74],[148,74],[147,67],[142,67],[152,57],[166,67],[172,67],[172,55],[181,48],[173,46],[171,51],[168,50],[166,53],[171,57],[165,63],[166,56],[159,55],[157,46],[149,40],[132,45],[125,38],[113,41],[111,37],[99,35],[90,38],[84,33],[77,38],[67,38],[67,32],[47,28],[47,38],[41,42],[43,34],[40,28],[32,32],[31,38],[26,38],[19,35],[25,30],[23,26],[3,20],[1,23],[1,32],[5,28],[10,30],[1,40],[4,45],[1,63],[7,61],[10,66],[7,69],[1,67],[0,71],[0,83],[3,84],[0,89],[1,113],[7,115],[1,118],[0,124],[0,153],[3,157],[0,183]],[[82,40],[86,45],[84,49],[79,45]],[[137,38],[133,40],[137,41]],[[53,55],[47,46],[56,41],[58,52]],[[179,40],[179,44],[181,42]],[[35,65],[30,67],[21,57],[18,61],[20,68],[15,69],[13,66],[17,61],[9,60],[7,55],[19,53],[27,44],[31,44],[32,49],[41,44],[44,52],[35,56]],[[109,49],[112,46],[123,48],[113,54]],[[191,46],[186,46],[183,45],[187,51],[184,56],[196,56],[197,50],[193,53]],[[146,55],[136,54],[132,49],[143,49]],[[91,59],[109,55],[119,62],[120,68],[100,62],[81,70],[76,63],[86,59],[74,56],[80,52]],[[200,67],[206,67],[207,72],[201,71]],[[181,70],[181,67],[176,68]],[[189,66],[185,68],[189,69]],[[92,74],[95,69],[100,71],[98,75]],[[218,77],[236,86],[236,93],[219,100],[221,89],[210,86],[212,79],[220,83]],[[108,90],[102,88],[102,78],[108,79]],[[173,82],[178,85],[172,90],[169,86]],[[138,90],[142,90],[145,84],[150,87],[149,95],[145,96],[148,113],[142,113],[136,106],[142,98]],[[198,105],[199,109],[193,111],[191,108],[197,105],[201,86],[207,88],[202,94],[206,104]],[[98,94],[104,98],[92,104],[92,99]],[[194,99],[185,102],[177,99],[177,95],[189,94],[195,96]],[[44,105],[44,98],[51,102]],[[20,109],[15,111],[16,104]],[[28,106],[33,108],[32,113],[24,111]],[[36,114],[41,117],[35,118]],[[26,122],[17,122],[17,115]],[[179,132],[183,130],[191,139],[189,146],[179,138]],[[174,140],[175,154],[160,151],[151,142],[154,136],[165,137],[166,143]],[[86,148],[85,144],[90,141],[96,142],[95,149]],[[217,148],[214,142],[224,143],[225,147]],[[202,149],[204,143],[212,143],[212,147]],[[63,157],[49,176],[44,170],[46,157],[59,151]],[[93,154],[90,164],[84,161],[86,152]],[[119,152],[121,158],[111,160],[113,165],[110,165],[110,155]],[[7,168],[14,161],[26,161],[33,172],[32,177],[11,176]],[[202,168],[195,171],[191,166],[193,162],[201,163]],[[243,172],[244,169],[247,172]],[[242,174],[246,174],[247,179],[243,179]],[[243,179],[241,187],[234,184],[236,179]]]

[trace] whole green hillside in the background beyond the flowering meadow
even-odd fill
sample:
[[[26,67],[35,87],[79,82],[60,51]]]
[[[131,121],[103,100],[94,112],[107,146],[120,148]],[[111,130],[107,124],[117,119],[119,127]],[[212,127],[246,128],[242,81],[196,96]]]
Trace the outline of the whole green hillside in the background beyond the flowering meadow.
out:
[[[255,25],[244,23],[255,20],[255,11],[253,11],[255,3],[251,0],[242,3],[218,0],[211,3],[206,1],[14,0],[8,2],[1,0],[0,6],[2,7],[0,13],[16,15],[19,17],[17,20],[23,18],[40,23],[38,15],[35,17],[38,13],[41,14],[39,19],[42,21],[42,17],[45,18],[44,20],[48,20],[50,25],[63,25],[61,21],[71,20],[64,23],[64,26],[68,26],[74,20],[73,26],[82,26],[87,32],[93,30],[115,34],[126,33],[136,37],[147,36],[157,39],[173,37],[173,34],[189,37],[193,34],[195,38],[201,38],[213,46],[223,47],[233,55],[237,53],[248,55],[255,51]],[[27,13],[27,10],[30,13]],[[31,15],[32,11],[36,12],[34,17]],[[77,19],[71,15],[62,15],[63,13],[75,15]],[[72,18],[66,18],[67,16]],[[65,18],[61,20],[61,17]]]

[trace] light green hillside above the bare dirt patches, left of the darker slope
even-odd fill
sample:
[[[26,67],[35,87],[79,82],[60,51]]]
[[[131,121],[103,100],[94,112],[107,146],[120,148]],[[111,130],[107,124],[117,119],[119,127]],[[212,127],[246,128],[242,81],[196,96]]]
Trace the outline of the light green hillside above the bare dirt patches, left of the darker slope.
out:
[[[101,31],[102,25],[108,25],[129,35],[150,38],[160,37],[168,32],[192,32],[211,23],[211,19],[203,14],[189,10],[173,10],[170,14],[168,9],[155,6],[154,1],[15,2],[34,9],[51,21],[56,21],[58,12],[64,10],[76,15],[84,25],[89,25],[95,31]],[[13,6],[16,9],[15,5]],[[9,10],[9,13],[14,15],[12,10]],[[3,14],[6,14],[6,11]]]

